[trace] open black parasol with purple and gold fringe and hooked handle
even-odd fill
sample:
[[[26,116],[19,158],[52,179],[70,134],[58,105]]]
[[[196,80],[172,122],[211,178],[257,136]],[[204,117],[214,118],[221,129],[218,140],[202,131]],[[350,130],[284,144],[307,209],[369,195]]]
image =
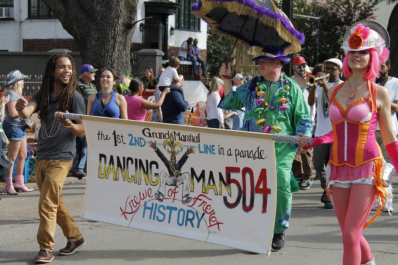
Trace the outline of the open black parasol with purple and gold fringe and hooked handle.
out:
[[[285,55],[301,51],[304,35],[272,0],[199,0],[192,11],[209,24],[212,32],[246,45],[251,55],[260,55],[265,45],[272,44],[278,44]]]

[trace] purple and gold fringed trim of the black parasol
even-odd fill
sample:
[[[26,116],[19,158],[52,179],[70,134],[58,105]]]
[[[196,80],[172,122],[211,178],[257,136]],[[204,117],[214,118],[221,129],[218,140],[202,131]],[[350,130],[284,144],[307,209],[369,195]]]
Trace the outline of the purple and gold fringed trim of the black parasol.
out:
[[[217,32],[221,35],[225,35],[230,39],[236,39],[232,36],[229,36],[221,31],[217,30],[218,23],[211,18],[206,17],[211,10],[216,7],[226,8],[229,12],[236,12],[238,15],[248,15],[254,18],[259,19],[265,25],[273,27],[276,29],[279,36],[284,39],[285,41],[291,43],[288,47],[284,49],[285,55],[291,53],[298,53],[301,51],[300,44],[304,42],[304,35],[297,31],[289,19],[287,19],[286,15],[279,10],[273,3],[273,7],[275,10],[269,10],[267,8],[263,8],[255,4],[255,2],[251,0],[201,0],[197,4],[192,5],[192,11],[196,14],[199,18],[205,20],[209,26],[211,27],[213,32]],[[279,12],[281,14],[277,14]],[[245,43],[243,43],[245,44]],[[249,45],[246,45],[250,47]],[[261,54],[262,47],[250,47],[248,53],[254,56],[258,56]]]

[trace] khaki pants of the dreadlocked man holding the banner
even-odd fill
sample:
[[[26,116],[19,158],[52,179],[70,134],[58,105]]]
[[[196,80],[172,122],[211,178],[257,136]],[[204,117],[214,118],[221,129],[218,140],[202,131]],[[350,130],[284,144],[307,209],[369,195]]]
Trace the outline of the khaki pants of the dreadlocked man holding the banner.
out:
[[[68,241],[82,238],[82,233],[70,216],[62,199],[61,190],[71,161],[38,160],[36,164],[36,183],[39,187],[39,216],[40,224],[37,231],[37,243],[40,249],[53,251],[55,241],[55,227],[61,227]]]

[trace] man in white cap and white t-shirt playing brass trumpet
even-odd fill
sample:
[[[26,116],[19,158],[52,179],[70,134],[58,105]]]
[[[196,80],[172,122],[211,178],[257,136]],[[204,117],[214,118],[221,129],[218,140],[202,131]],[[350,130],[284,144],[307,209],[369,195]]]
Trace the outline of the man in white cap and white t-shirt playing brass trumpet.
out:
[[[329,60],[324,61],[325,64],[325,74],[329,74],[329,80],[326,81],[326,78],[319,79],[317,84],[312,86],[310,90],[310,94],[308,95],[308,105],[314,105],[315,101],[317,102],[316,107],[316,129],[315,129],[315,137],[322,136],[324,134],[332,131],[332,123],[329,118],[329,99],[328,99],[328,90],[334,86],[337,86],[342,81],[339,76],[341,73],[341,68],[343,67],[343,63],[338,58],[331,58]],[[316,73],[316,77],[324,76],[324,73]],[[314,146],[314,150],[312,151],[313,158],[312,164],[314,165],[314,169],[316,174],[318,175],[321,188],[324,190],[321,202],[324,203],[325,209],[333,209],[333,202],[326,195],[326,167],[325,162],[329,160],[330,149],[332,148],[332,144],[320,144],[318,146]]]

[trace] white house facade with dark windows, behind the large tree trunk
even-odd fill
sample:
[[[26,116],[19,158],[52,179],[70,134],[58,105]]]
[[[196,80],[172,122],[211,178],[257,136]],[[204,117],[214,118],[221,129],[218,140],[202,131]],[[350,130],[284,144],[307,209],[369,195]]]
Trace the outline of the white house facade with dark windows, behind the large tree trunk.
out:
[[[206,54],[207,24],[191,13],[193,0],[140,0],[132,51],[159,49],[165,58],[177,55],[181,43],[193,37]],[[0,0],[0,51],[78,52],[72,36],[41,0]]]

